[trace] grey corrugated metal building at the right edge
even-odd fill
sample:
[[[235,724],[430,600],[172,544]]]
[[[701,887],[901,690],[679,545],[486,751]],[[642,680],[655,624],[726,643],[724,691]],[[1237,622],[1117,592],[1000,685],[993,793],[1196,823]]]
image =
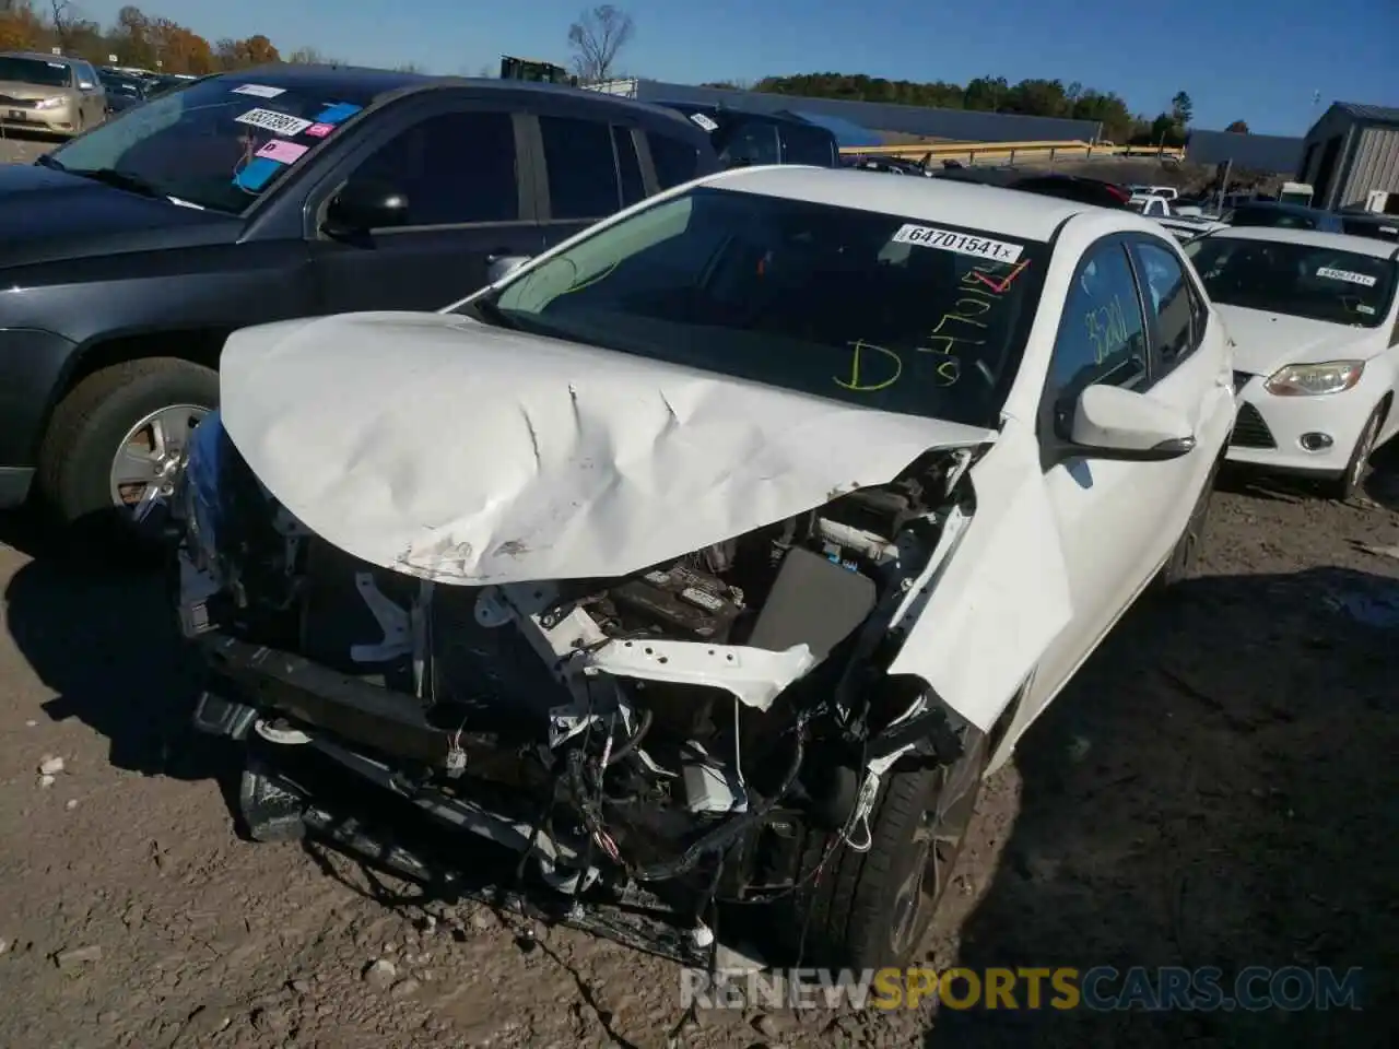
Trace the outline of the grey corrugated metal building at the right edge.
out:
[[[1336,102],[1302,138],[1298,178],[1316,207],[1364,204],[1371,190],[1399,192],[1399,109]]]

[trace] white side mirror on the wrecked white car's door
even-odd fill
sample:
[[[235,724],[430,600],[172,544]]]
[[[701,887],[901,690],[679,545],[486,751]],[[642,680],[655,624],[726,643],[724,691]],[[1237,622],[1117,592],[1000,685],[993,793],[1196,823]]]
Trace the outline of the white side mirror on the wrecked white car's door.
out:
[[[1079,394],[1066,456],[1157,463],[1195,449],[1191,421],[1168,404],[1121,386]]]

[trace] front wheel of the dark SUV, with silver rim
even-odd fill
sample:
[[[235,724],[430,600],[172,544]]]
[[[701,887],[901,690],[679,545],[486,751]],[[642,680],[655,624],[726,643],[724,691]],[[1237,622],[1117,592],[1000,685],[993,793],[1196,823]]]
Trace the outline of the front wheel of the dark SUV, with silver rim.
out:
[[[189,438],[218,404],[218,373],[173,357],[104,368],[64,397],[39,450],[39,491],[70,529],[150,545]]]

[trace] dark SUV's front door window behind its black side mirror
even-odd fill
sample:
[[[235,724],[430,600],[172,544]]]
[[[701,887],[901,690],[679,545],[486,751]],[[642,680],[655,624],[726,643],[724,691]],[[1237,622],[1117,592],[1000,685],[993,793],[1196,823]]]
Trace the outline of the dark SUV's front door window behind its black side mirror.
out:
[[[407,196],[410,227],[513,221],[515,124],[504,112],[429,116],[375,151],[351,179]]]

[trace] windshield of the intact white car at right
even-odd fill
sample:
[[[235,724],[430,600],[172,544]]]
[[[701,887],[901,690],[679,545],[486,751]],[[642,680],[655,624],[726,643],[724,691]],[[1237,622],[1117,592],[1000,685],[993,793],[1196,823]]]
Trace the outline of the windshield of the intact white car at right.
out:
[[[1304,243],[1207,236],[1185,250],[1216,302],[1333,324],[1378,327],[1399,276],[1388,259]]]

